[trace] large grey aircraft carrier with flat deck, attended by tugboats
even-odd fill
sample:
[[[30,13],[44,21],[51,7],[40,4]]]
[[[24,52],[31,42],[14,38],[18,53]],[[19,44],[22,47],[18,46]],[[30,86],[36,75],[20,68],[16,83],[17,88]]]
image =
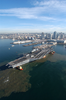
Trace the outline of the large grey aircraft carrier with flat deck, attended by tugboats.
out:
[[[52,51],[53,49],[51,47],[34,48],[30,53],[24,54],[23,57],[20,57],[14,61],[9,62],[7,66],[16,68],[17,66],[44,58],[48,53]]]

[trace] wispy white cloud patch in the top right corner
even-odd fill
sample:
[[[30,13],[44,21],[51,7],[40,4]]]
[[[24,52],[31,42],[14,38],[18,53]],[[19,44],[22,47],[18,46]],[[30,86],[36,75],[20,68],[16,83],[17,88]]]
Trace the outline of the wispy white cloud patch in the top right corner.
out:
[[[40,2],[36,1],[34,5],[39,6],[39,7],[44,7],[46,11],[57,10],[60,12],[66,12],[66,1],[65,0],[42,0]]]

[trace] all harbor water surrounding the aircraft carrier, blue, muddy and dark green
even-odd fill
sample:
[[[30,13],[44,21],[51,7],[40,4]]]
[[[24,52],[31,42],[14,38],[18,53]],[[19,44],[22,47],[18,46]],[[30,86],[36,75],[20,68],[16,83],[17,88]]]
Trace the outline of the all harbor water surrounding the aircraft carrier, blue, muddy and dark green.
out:
[[[30,52],[33,46],[12,46],[0,40],[0,100],[66,100],[66,48],[55,45],[54,55],[23,65],[23,71],[5,64]]]

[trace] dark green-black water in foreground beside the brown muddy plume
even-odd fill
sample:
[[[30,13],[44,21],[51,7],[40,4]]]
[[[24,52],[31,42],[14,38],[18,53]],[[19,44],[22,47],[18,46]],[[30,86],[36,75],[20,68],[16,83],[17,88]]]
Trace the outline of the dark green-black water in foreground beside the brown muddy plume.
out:
[[[62,66],[59,68],[57,64],[47,61],[39,64],[39,67],[33,67],[29,72],[31,89],[27,92],[13,92],[0,100],[66,100],[66,91],[60,76]]]

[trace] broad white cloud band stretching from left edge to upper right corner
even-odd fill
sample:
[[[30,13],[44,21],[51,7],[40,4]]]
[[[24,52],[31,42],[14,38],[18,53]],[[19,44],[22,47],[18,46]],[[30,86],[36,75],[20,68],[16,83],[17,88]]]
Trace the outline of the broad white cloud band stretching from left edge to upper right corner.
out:
[[[61,21],[66,12],[66,1],[36,1],[35,7],[0,9],[0,16],[15,16],[20,19],[37,19],[43,21]],[[64,17],[64,16],[63,16]],[[64,18],[62,20],[65,20]]]

